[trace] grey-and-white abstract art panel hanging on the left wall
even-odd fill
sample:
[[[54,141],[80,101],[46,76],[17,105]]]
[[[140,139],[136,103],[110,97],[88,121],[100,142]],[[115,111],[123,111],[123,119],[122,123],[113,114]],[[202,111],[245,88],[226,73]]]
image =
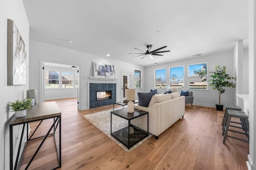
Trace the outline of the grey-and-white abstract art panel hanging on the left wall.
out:
[[[14,22],[8,19],[7,85],[26,85],[26,46]]]

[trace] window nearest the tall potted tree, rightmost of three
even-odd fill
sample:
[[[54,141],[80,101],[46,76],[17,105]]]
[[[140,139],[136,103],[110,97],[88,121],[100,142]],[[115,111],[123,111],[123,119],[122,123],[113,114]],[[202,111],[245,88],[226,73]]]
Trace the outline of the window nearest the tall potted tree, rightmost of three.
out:
[[[207,89],[207,63],[188,65],[188,88]]]

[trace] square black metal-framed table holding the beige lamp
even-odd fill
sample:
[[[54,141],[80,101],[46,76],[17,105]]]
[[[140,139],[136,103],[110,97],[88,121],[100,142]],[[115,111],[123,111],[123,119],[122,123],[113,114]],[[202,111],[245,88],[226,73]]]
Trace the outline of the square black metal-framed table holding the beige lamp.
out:
[[[120,109],[111,111],[111,119],[110,119],[110,134],[116,138],[120,143],[130,149],[136,143],[140,142],[142,139],[148,137],[148,131],[144,131],[130,124],[132,119],[136,119],[142,115],[148,115],[147,111],[134,109],[134,113],[128,113],[128,109]],[[118,131],[112,133],[112,114],[122,117],[123,119],[128,120],[128,126]],[[114,121],[114,120],[113,120]],[[132,134],[128,133],[128,127],[132,127],[134,132]],[[130,129],[130,128],[129,128]]]

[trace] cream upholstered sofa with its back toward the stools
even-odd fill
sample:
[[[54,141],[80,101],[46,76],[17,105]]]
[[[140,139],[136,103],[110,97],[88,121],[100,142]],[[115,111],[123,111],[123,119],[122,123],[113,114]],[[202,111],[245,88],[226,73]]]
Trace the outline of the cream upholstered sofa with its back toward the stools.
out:
[[[148,131],[158,139],[159,135],[185,114],[185,97],[179,92],[156,94],[148,107],[134,105],[135,109],[148,111]],[[147,115],[133,119],[131,124],[147,131]]]

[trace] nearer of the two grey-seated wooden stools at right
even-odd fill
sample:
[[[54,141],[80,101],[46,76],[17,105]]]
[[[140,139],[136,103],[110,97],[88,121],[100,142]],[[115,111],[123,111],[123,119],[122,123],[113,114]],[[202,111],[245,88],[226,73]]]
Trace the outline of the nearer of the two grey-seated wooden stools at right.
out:
[[[237,140],[249,143],[249,121],[248,121],[248,115],[246,115],[246,113],[244,111],[238,111],[238,110],[228,110],[227,115],[228,116],[227,116],[227,119],[224,122],[224,128],[223,128],[223,131],[222,131],[222,135],[224,135],[224,138],[223,138],[222,142],[225,143],[226,142],[226,138],[230,137],[230,138],[233,138],[233,139],[237,139]],[[242,125],[244,127],[241,128],[241,127],[236,127],[236,126],[230,125],[230,122],[231,122],[230,120],[231,120],[232,117],[239,118],[241,120]],[[229,127],[236,127],[236,128],[244,129],[245,133],[231,130],[231,129],[229,129]],[[240,133],[240,134],[246,135],[247,138],[248,138],[248,141],[244,140],[244,139],[237,138],[237,137],[229,136],[228,135],[228,131],[232,131],[232,132],[235,132],[235,133]]]

